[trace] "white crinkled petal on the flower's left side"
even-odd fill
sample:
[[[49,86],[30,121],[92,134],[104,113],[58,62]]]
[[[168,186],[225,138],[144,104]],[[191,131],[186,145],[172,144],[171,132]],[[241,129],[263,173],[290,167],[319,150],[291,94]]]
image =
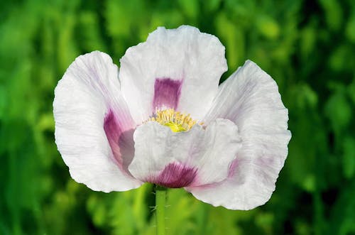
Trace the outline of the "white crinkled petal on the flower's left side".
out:
[[[135,126],[109,55],[78,57],[55,88],[53,109],[55,143],[74,180],[104,192],[141,185],[124,171],[119,146],[114,151],[109,143]]]

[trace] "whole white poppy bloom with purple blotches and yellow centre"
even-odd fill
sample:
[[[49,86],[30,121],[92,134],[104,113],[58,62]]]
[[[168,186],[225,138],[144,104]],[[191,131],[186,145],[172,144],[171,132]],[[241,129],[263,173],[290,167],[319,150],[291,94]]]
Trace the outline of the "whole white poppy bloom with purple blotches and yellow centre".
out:
[[[55,142],[70,175],[110,192],[152,182],[228,209],[264,204],[288,155],[288,109],[250,60],[225,82],[224,46],[158,28],[109,55],[80,55],[55,88]]]

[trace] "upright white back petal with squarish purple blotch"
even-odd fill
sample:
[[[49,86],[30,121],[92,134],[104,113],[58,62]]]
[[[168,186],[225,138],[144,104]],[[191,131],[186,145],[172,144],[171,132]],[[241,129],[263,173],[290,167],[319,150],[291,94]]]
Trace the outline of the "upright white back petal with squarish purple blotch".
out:
[[[227,69],[219,39],[192,26],[160,27],[120,62],[121,91],[136,123],[165,108],[202,119]]]

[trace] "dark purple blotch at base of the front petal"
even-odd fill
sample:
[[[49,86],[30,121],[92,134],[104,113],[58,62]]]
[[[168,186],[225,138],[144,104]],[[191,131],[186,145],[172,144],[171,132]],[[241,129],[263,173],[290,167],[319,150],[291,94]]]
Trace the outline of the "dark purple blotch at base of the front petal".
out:
[[[197,175],[197,169],[179,163],[170,163],[155,177],[150,177],[147,182],[152,182],[164,187],[187,187]]]

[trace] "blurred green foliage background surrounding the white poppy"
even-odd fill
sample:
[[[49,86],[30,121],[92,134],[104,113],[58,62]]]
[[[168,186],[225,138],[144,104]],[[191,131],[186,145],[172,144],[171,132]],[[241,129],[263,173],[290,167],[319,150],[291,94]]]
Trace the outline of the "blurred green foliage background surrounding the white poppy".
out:
[[[0,234],[155,234],[152,186],[93,192],[54,143],[53,89],[75,58],[119,63],[157,26],[197,26],[279,85],[293,138],[270,202],[248,212],[169,190],[168,234],[355,234],[355,1],[4,1]]]

